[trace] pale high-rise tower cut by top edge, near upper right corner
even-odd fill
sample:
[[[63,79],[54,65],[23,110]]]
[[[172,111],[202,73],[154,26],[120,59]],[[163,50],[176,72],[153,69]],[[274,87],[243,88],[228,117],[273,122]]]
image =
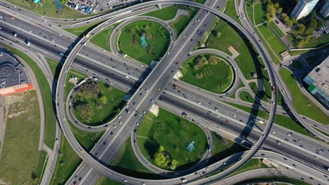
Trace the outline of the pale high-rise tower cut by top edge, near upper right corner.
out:
[[[299,0],[294,10],[290,14],[290,17],[296,18],[296,20],[306,17],[309,15],[309,13],[311,13],[318,1],[319,0]]]

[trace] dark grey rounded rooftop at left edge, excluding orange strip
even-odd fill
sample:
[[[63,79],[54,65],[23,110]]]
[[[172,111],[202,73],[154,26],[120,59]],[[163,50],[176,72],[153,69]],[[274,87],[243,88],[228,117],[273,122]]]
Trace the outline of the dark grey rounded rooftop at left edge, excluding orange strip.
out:
[[[0,48],[0,89],[28,82],[29,78],[20,62]]]

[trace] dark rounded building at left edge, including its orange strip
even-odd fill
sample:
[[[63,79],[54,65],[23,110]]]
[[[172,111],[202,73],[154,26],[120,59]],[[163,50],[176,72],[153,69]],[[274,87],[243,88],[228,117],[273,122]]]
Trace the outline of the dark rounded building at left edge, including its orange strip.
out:
[[[30,80],[15,57],[0,48],[0,95],[11,95],[33,89]]]

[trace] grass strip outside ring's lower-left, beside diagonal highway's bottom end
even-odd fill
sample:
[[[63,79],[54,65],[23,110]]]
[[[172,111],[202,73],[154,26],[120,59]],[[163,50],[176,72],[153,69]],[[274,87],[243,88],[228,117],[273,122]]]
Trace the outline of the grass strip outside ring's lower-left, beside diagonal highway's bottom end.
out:
[[[50,184],[64,184],[72,172],[74,172],[77,165],[81,162],[81,159],[75,152],[76,151],[72,149],[64,135],[62,135],[60,140],[60,151],[58,153],[56,167],[53,171]]]

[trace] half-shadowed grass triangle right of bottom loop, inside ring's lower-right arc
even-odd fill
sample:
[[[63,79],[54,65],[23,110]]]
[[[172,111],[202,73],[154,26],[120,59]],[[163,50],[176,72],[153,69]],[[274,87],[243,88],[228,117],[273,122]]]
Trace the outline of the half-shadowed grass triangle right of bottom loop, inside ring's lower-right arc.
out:
[[[245,148],[236,142],[231,141],[230,139],[226,139],[225,137],[221,137],[214,132],[212,133],[212,156],[209,158],[207,164],[216,163],[223,158],[233,155],[234,153],[238,153],[240,151],[245,151]]]

